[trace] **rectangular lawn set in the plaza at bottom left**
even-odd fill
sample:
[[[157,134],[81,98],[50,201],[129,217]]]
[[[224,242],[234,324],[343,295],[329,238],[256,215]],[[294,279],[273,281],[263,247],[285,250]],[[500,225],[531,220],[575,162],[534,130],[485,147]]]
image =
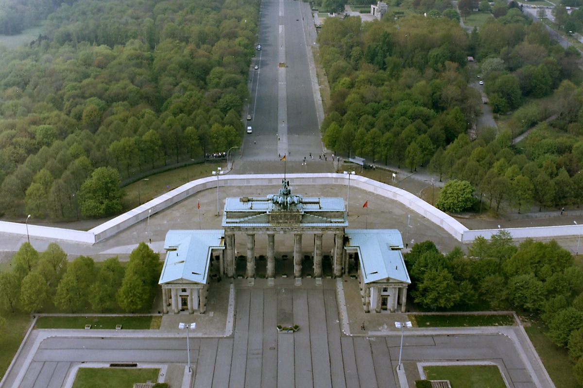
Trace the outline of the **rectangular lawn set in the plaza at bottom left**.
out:
[[[134,383],[158,381],[154,368],[79,368],[73,388],[132,388]]]

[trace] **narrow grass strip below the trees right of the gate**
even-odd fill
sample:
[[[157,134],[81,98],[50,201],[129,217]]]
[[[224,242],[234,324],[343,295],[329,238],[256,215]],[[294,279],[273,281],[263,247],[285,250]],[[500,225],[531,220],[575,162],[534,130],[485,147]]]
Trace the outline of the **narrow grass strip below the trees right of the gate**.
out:
[[[509,314],[492,315],[415,315],[419,328],[464,328],[475,326],[512,326],[514,318]]]

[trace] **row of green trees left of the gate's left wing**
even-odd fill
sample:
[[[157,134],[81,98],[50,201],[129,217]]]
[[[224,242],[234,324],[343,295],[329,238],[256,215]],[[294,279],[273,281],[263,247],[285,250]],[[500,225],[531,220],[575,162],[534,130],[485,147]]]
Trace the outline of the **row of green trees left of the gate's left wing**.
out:
[[[127,266],[117,257],[100,265],[87,256],[68,262],[57,243],[40,253],[23,243],[12,269],[0,272],[0,305],[22,312],[55,307],[74,313],[88,306],[95,312],[144,311],[152,307],[160,270],[159,254],[145,243],[131,252]]]

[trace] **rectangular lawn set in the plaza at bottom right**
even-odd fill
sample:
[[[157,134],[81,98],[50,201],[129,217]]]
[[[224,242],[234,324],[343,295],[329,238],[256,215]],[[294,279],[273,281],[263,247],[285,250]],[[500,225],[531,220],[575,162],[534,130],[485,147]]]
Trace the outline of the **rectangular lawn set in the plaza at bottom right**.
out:
[[[423,368],[429,380],[449,380],[451,388],[506,388],[496,365],[440,365]]]

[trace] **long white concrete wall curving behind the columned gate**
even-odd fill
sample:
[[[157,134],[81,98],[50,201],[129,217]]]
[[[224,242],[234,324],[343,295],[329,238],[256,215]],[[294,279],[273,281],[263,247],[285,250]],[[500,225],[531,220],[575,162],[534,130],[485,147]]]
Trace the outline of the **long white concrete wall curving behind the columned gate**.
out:
[[[305,185],[344,185],[349,183],[348,175],[345,174],[289,174],[286,179],[290,181],[291,187]],[[219,177],[219,187],[225,186],[273,186],[273,193],[282,183],[281,175],[222,175]],[[94,244],[97,241],[107,239],[114,234],[138,223],[155,213],[171,207],[203,190],[215,188],[217,186],[216,176],[206,177],[183,184],[168,193],[154,198],[145,204],[132,209],[114,219],[111,219],[99,226],[83,232],[80,230],[60,229],[56,227],[37,226],[29,222],[29,235],[35,238],[44,238],[51,240],[73,241],[82,244]],[[381,195],[394,201],[398,201],[412,211],[419,213],[431,222],[445,229],[456,240],[462,243],[470,243],[476,236],[484,236],[487,239],[492,234],[498,232],[494,230],[469,230],[453,217],[434,208],[427,202],[408,193],[408,191],[380,183],[359,175],[350,176],[350,186],[358,187],[361,190],[370,191],[371,193]],[[577,236],[583,232],[583,225],[567,226],[549,226],[549,227],[528,227],[506,229],[515,239],[524,239],[526,237],[535,238],[553,238],[562,236]],[[20,234],[26,236],[26,225],[24,223],[0,222],[0,233]]]

